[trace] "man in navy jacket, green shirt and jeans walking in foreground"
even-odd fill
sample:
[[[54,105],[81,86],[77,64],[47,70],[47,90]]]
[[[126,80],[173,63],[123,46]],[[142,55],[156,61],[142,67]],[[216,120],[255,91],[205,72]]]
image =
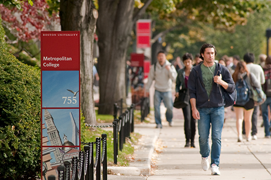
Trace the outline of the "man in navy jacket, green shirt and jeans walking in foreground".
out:
[[[200,54],[203,63],[194,67],[189,75],[188,89],[192,114],[198,119],[200,153],[202,168],[209,169],[209,131],[211,138],[211,172],[220,175],[219,157],[221,151],[221,133],[224,123],[223,91],[235,90],[235,83],[229,70],[214,62],[216,49],[212,44],[203,44]]]

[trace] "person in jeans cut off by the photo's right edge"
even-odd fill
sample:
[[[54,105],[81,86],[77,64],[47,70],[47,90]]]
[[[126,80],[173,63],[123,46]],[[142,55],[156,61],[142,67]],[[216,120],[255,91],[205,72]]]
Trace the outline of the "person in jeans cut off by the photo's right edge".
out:
[[[261,105],[262,108],[262,115],[264,120],[264,126],[265,126],[265,138],[271,138],[270,137],[270,122],[268,119],[268,106],[271,108],[271,56],[268,56],[266,58],[266,63],[263,68],[265,72],[265,79],[266,82],[263,84],[263,91],[265,92],[267,99],[266,101]]]

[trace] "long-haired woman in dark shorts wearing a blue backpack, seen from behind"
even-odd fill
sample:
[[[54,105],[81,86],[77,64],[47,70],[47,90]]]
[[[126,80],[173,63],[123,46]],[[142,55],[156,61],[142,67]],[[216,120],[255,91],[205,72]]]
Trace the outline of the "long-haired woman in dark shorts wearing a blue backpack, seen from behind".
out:
[[[252,86],[261,88],[260,82],[253,73],[250,73],[244,61],[239,61],[233,79],[236,84],[237,101],[234,105],[236,112],[237,142],[242,141],[242,121],[245,122],[246,141],[251,140],[251,117],[254,110],[254,100],[252,99]]]

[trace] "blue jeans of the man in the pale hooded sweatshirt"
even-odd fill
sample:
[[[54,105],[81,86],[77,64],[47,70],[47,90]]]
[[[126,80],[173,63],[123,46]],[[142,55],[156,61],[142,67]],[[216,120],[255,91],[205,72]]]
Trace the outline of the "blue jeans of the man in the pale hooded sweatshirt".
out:
[[[167,108],[166,111],[166,118],[167,121],[171,122],[173,117],[173,101],[172,101],[172,93],[171,91],[168,92],[160,92],[155,90],[154,93],[154,117],[156,124],[162,124],[161,116],[160,116],[160,105],[161,102],[164,102],[165,107]]]

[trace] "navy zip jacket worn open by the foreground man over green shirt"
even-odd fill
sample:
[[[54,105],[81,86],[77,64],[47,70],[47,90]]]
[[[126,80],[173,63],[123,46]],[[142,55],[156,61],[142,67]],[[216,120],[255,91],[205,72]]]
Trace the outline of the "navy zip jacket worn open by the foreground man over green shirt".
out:
[[[224,89],[221,85],[213,82],[210,97],[208,97],[203,84],[203,76],[201,70],[202,63],[195,66],[190,72],[188,78],[188,89],[190,99],[196,99],[197,108],[217,108],[225,106],[223,91],[226,90],[232,93],[235,90],[235,82],[229,70],[219,63],[215,64],[216,66],[214,75],[222,74],[222,80],[227,82],[229,86],[227,89]]]

